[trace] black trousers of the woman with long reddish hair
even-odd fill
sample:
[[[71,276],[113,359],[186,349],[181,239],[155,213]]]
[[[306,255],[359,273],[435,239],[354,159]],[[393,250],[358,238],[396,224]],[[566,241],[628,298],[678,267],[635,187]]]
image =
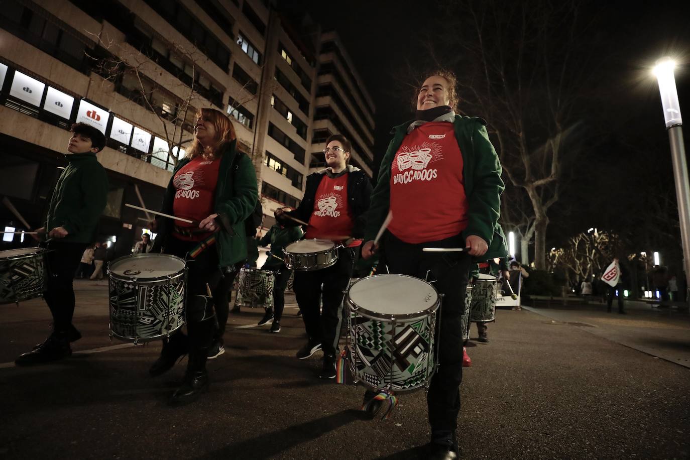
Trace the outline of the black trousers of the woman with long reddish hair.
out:
[[[215,246],[201,251],[195,259],[188,257],[188,252],[197,246],[195,241],[182,241],[172,235],[168,236],[164,252],[187,261],[187,300],[185,317],[189,333],[188,371],[206,369],[206,353],[213,339],[215,330],[215,310],[213,297],[208,296],[217,288],[221,278],[218,252]],[[208,285],[208,288],[207,288]],[[178,332],[182,334],[182,332]],[[171,337],[171,340],[173,338]]]

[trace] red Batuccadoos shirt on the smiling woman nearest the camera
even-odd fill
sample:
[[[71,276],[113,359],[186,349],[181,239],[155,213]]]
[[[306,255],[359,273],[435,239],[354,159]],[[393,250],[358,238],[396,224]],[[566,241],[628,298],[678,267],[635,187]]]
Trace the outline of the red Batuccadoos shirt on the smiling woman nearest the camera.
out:
[[[406,243],[453,237],[466,228],[468,207],[453,123],[415,128],[391,165],[388,230]]]

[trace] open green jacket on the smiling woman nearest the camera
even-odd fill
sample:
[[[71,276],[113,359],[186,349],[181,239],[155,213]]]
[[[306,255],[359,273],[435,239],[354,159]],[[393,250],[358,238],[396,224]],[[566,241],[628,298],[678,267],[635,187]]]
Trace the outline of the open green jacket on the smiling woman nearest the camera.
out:
[[[391,166],[411,123],[412,121],[407,121],[393,128],[393,139],[381,161],[376,188],[371,197],[364,241],[374,239],[388,214],[391,202]],[[498,223],[500,195],[504,189],[502,168],[485,125],[486,122],[480,118],[460,115],[456,115],[453,122],[455,139],[462,153],[462,177],[469,204],[469,219],[462,236],[466,238],[477,235],[489,245],[486,254],[474,258],[477,262],[504,257],[508,252],[503,230]]]

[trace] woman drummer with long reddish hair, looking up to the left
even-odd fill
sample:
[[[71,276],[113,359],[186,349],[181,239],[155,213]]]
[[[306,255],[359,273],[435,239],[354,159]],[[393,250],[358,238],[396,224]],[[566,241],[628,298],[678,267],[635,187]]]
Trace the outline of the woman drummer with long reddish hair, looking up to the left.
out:
[[[184,159],[172,173],[162,211],[194,223],[161,218],[152,252],[165,252],[187,261],[186,319],[189,337],[181,331],[164,341],[161,355],[149,372],[160,375],[189,354],[182,386],[170,403],[195,401],[208,388],[206,357],[215,313],[212,292],[221,271],[247,257],[244,219],[254,210],[257,179],[254,166],[236,150],[233,123],[222,112],[201,109],[194,126],[194,139]]]

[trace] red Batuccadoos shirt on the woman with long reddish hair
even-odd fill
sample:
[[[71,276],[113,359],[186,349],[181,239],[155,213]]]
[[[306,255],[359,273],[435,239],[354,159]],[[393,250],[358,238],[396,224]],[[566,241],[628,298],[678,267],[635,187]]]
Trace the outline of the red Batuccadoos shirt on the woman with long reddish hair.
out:
[[[172,213],[175,214],[175,217],[197,222],[175,221],[175,226],[193,230],[199,227],[199,221],[203,221],[210,214],[213,214],[219,167],[220,159],[208,160],[195,157],[175,172],[175,177],[172,178],[172,185],[176,189],[175,199],[172,201]],[[176,233],[175,237],[185,241],[201,241],[209,234],[181,235]]]

